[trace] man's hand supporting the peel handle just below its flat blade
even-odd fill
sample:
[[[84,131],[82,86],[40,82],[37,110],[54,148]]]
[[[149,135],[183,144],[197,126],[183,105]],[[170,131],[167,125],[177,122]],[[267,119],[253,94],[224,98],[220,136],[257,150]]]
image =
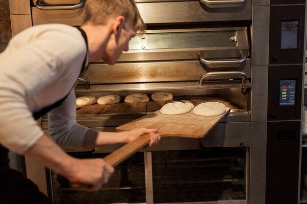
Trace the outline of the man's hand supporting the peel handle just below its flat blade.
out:
[[[158,129],[136,128],[136,129],[133,129],[127,132],[122,132],[122,133],[126,134],[127,142],[131,142],[134,139],[144,134],[149,134],[150,135],[150,143],[149,143],[150,147],[153,145],[156,145],[161,139]]]

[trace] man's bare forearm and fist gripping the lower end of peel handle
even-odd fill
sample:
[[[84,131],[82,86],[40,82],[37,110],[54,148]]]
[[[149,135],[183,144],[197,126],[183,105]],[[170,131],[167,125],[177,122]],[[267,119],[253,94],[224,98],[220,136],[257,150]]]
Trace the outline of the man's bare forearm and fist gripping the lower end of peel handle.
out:
[[[97,191],[114,172],[114,168],[103,159],[76,159],[67,155],[45,135],[28,149],[25,155],[61,174],[72,183],[84,184],[90,191]]]

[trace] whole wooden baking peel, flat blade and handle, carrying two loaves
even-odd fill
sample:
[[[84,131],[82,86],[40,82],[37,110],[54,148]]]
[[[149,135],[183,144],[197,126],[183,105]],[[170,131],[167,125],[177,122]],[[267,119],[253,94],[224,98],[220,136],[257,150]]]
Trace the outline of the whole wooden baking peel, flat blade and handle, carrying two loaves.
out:
[[[119,126],[116,128],[116,131],[130,131],[141,127],[149,129],[158,128],[161,138],[171,136],[202,138],[229,112],[230,108],[226,108],[226,112],[222,115],[198,116],[194,115],[192,112],[179,115],[163,115],[160,111],[156,111]],[[103,159],[108,164],[115,167],[147,146],[149,142],[150,136],[148,134],[142,135]],[[80,183],[71,183],[71,187],[82,188],[84,185]]]

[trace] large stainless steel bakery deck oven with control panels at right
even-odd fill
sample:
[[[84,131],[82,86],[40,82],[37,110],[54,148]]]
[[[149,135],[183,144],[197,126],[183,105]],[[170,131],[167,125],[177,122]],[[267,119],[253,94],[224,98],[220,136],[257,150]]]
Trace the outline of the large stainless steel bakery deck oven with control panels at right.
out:
[[[131,39],[116,65],[90,64],[76,96],[168,91],[173,101],[219,101],[230,113],[203,139],[163,138],[133,155],[95,193],[26,159],[28,177],[55,204],[298,203],[305,0],[135,1],[146,34]],[[10,0],[13,34],[43,23],[79,26],[83,5]],[[78,107],[77,122],[115,131],[168,102]],[[48,133],[47,116],[40,125]],[[103,158],[118,147],[67,152]]]

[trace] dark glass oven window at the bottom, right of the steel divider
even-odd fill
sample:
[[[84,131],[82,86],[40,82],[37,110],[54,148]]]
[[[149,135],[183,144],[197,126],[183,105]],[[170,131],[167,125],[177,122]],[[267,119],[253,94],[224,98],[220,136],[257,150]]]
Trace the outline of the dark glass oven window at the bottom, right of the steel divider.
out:
[[[153,203],[246,200],[245,149],[152,152]]]

